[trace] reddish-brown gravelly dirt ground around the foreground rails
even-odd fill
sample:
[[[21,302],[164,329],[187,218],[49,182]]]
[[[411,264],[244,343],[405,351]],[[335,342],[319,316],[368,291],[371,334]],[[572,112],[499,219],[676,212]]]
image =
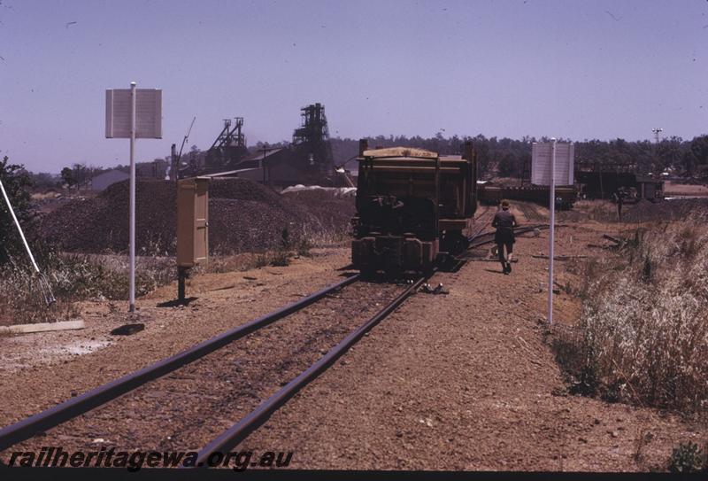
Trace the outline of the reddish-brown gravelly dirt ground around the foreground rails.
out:
[[[514,206],[514,211],[527,223],[546,215],[543,208],[530,205]],[[566,221],[557,230],[556,255],[610,255],[588,244],[602,245],[603,234],[618,235],[623,229],[626,226],[619,222]],[[419,293],[407,300],[238,449],[292,450],[291,467],[299,469],[634,471],[663,469],[680,442],[704,442],[706,426],[673,413],[567,393],[549,347],[553,331],[544,322],[547,231],[519,237],[515,250],[519,261],[508,276],[498,263],[485,259],[470,260],[457,273],[435,274],[430,283],[443,283],[449,294]],[[341,279],[337,268],[348,263],[345,246],[320,249],[287,268],[196,276],[188,295],[198,299],[186,307],[159,306],[174,298],[176,287],[171,285],[139,299],[134,315],[124,312],[125,303],[85,303],[86,330],[0,337],[0,425],[317,291]],[[556,263],[559,286],[580,282],[568,268],[572,263]],[[312,318],[278,322],[291,324],[224,356],[224,365],[232,369],[219,371],[221,384],[190,381],[199,366],[189,367],[196,369],[189,371],[192,377],[181,376],[181,384],[169,389],[158,381],[151,387],[158,386],[162,393],[158,402],[173,396],[174,402],[164,402],[174,408],[172,415],[145,414],[126,396],[75,420],[71,435],[58,428],[23,447],[38,450],[51,440],[96,449],[96,439],[132,448],[199,447],[204,434],[196,433],[196,423],[204,423],[204,416],[211,413],[214,429],[226,429],[296,376],[300,364],[283,368],[282,351],[327,349],[327,343],[346,331],[335,319],[342,314],[338,310],[347,308],[352,306],[320,307]],[[560,289],[555,321],[573,324],[580,312],[580,300]],[[361,322],[347,316],[352,318],[347,329]],[[125,322],[143,322],[145,330],[129,337],[109,334]],[[313,326],[329,334],[320,336]],[[284,344],[291,346],[274,348],[282,344],[283,336],[292,339]],[[308,359],[301,361],[306,364]],[[262,373],[252,374],[252,369]],[[256,389],[256,380],[263,379],[270,384]],[[247,391],[250,404],[244,405],[240,396]],[[142,391],[137,401],[154,405],[149,392]],[[234,404],[213,404],[219,392],[227,392]],[[202,404],[211,410],[196,410]],[[184,420],[173,424],[171,416],[183,412],[199,415],[186,416],[191,424]],[[155,429],[156,418],[162,429]],[[185,436],[173,440],[177,430]],[[141,434],[149,431],[149,436]]]

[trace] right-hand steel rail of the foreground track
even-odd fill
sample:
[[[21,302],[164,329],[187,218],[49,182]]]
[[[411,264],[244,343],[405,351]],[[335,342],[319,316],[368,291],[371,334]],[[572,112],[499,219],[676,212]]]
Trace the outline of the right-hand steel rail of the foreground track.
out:
[[[223,455],[229,449],[238,445],[243,439],[247,438],[250,433],[256,431],[263,423],[266,423],[268,418],[273,415],[282,405],[284,405],[296,392],[299,392],[305,385],[309,384],[313,379],[319,376],[329,366],[331,366],[343,353],[356,344],[357,341],[371,330],[373,326],[381,322],[387,315],[391,314],[396,307],[400,306],[413,292],[418,291],[419,287],[435,273],[435,270],[430,275],[424,275],[412,283],[404,292],[393,299],[388,306],[385,306],[377,314],[374,314],[371,319],[353,330],[347,337],[344,337],[339,344],[330,349],[324,356],[315,361],[312,366],[305,369],[299,376],[296,376],[288,384],[285,384],[278,392],[275,392],[267,400],[263,401],[250,414],[244,416],[238,423],[227,429],[214,438],[212,442],[204,446],[197,454],[196,467],[204,467],[213,464],[210,462],[212,454]],[[213,461],[213,460],[212,460]]]

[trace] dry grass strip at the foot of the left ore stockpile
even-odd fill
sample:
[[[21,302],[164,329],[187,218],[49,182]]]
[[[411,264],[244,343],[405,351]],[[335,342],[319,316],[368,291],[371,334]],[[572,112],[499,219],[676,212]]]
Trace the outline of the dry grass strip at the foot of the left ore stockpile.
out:
[[[269,265],[287,266],[296,256],[310,256],[316,246],[339,245],[346,232],[323,234],[304,229],[293,238],[283,231],[276,250],[267,252],[219,255],[212,253],[207,268],[200,272],[232,272]],[[176,279],[173,257],[158,256],[157,247],[148,251],[156,255],[136,258],[135,296],[140,297]],[[142,253],[142,252],[140,252]],[[72,319],[79,314],[77,301],[126,300],[128,297],[128,265],[126,255],[62,253],[42,246],[36,252],[38,261],[50,282],[57,302],[47,306],[39,279],[24,261],[11,262],[0,268],[0,324],[55,322]]]

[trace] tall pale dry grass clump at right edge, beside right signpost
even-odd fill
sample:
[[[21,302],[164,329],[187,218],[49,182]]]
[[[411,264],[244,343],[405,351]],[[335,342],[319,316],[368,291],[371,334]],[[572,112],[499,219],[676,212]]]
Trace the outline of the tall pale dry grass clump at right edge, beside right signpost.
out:
[[[619,257],[585,266],[577,330],[558,358],[579,392],[708,411],[708,227],[704,218],[627,233]]]

